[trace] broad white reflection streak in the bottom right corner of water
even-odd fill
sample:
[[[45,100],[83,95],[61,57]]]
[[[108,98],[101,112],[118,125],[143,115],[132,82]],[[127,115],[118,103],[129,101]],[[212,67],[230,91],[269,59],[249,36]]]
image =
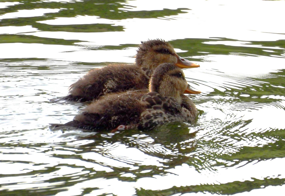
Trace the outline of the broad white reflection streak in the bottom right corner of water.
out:
[[[215,172],[208,169],[196,171],[194,167],[182,164],[167,170],[170,174],[141,178],[136,183],[138,187],[151,190],[163,190],[173,186],[190,186],[199,184],[225,184],[234,181],[251,181],[252,178],[285,178],[285,171],[280,170],[285,164],[285,158],[275,158],[266,161],[241,162],[232,167],[214,167]],[[266,168],[266,171],[264,171]],[[260,174],[260,171],[263,171]],[[163,183],[157,184],[157,181]]]

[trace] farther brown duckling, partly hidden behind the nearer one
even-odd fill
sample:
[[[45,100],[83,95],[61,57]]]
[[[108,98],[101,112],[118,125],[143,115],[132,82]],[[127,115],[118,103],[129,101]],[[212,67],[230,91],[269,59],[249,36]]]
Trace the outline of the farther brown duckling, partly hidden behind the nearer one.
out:
[[[200,67],[176,54],[173,46],[164,40],[141,42],[135,65],[109,65],[89,71],[70,86],[64,100],[86,102],[111,92],[148,88],[152,71],[161,63],[174,63],[181,68]]]

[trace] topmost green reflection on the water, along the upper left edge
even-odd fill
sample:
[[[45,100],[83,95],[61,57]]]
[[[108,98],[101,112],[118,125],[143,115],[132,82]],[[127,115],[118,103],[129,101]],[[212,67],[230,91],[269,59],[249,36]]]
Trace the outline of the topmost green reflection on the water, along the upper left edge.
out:
[[[163,9],[151,11],[127,11],[124,9],[126,1],[100,1],[100,0],[85,0],[73,1],[70,3],[61,2],[43,2],[43,1],[21,1],[23,4],[17,4],[3,8],[2,13],[12,13],[18,10],[32,10],[39,8],[61,9],[58,13],[48,13],[42,16],[43,19],[54,19],[55,17],[74,17],[74,16],[99,16],[100,18],[107,18],[113,20],[122,20],[127,18],[158,18],[178,13],[185,13],[182,10],[189,10],[188,8],[179,9]],[[124,11],[122,11],[122,9]]]

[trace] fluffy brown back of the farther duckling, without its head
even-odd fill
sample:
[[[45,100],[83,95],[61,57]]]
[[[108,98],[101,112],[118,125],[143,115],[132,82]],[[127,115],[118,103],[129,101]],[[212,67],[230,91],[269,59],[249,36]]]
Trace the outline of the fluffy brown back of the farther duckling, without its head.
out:
[[[136,65],[109,65],[94,69],[70,86],[65,100],[91,101],[111,92],[146,89],[152,71]]]

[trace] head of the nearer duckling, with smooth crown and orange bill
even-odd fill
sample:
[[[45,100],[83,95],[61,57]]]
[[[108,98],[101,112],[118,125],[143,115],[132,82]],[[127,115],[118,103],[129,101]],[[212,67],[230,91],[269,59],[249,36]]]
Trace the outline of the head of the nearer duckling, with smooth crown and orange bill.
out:
[[[173,97],[178,102],[181,102],[180,95],[183,93],[201,93],[187,83],[182,69],[173,63],[163,63],[154,70],[150,79],[149,91]]]

